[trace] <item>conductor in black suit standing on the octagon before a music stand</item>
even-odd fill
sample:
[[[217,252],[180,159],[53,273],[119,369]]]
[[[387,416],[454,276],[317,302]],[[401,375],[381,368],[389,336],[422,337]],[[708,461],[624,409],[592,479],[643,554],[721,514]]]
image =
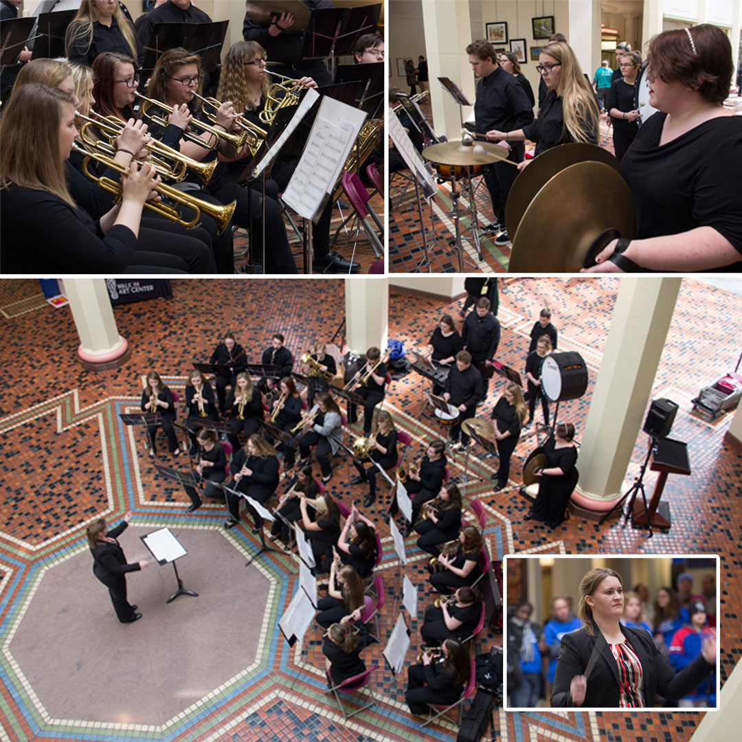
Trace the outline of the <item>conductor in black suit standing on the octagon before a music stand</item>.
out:
[[[139,620],[142,614],[136,613],[136,605],[129,605],[126,600],[126,573],[144,569],[149,562],[126,563],[123,549],[116,541],[118,536],[129,525],[131,513],[126,513],[124,519],[116,528],[108,531],[104,518],[99,518],[88,525],[88,546],[93,552],[93,574],[108,588],[111,603],[114,604],[116,616],[121,623],[132,623]]]

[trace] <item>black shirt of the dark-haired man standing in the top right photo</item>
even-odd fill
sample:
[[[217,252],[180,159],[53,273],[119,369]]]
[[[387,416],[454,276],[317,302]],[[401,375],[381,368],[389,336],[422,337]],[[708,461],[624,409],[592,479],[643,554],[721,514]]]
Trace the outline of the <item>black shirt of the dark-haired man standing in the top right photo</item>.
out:
[[[513,131],[533,121],[533,107],[520,83],[501,67],[476,85],[476,132]]]

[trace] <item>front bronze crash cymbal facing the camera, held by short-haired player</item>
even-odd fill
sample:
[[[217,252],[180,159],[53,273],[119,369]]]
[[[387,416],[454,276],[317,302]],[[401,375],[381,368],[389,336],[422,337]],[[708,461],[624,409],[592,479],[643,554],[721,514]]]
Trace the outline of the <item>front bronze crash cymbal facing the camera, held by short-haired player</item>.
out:
[[[530,165],[529,165],[530,167]],[[574,273],[606,229],[636,234],[634,199],[626,181],[604,162],[577,162],[536,194],[513,237],[511,273]]]

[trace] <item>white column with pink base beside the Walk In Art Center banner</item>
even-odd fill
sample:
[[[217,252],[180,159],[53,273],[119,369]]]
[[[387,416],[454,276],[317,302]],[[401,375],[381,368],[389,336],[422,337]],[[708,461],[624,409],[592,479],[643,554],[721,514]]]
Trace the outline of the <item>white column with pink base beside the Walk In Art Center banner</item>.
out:
[[[105,280],[71,278],[65,280],[64,285],[80,338],[77,355],[83,366],[103,370],[103,367],[123,364],[129,355],[128,342],[116,328]]]

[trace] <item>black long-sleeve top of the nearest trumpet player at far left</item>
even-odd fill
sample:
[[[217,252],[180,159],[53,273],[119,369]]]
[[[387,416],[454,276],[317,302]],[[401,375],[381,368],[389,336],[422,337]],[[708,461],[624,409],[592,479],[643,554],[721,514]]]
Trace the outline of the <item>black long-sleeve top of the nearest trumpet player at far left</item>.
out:
[[[33,249],[29,249],[33,246]],[[0,268],[4,273],[123,272],[137,237],[116,224],[105,237],[82,209],[36,188],[11,183],[0,198]]]

